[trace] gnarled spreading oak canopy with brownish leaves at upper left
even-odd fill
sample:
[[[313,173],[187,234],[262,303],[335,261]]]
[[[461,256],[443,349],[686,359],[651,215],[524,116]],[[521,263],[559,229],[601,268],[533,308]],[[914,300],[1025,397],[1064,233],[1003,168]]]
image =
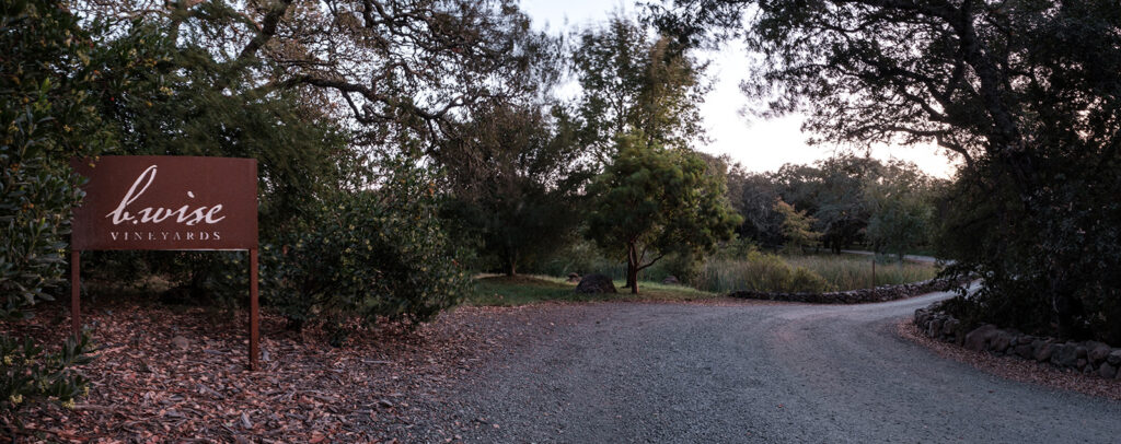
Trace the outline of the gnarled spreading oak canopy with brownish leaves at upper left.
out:
[[[438,157],[471,109],[536,91],[521,84],[555,52],[506,0],[149,0],[82,2],[91,17],[156,21],[206,49],[250,87],[299,90],[345,119],[355,145]],[[214,18],[220,18],[214,22]],[[217,83],[221,90],[224,83]],[[393,152],[388,152],[393,154]]]

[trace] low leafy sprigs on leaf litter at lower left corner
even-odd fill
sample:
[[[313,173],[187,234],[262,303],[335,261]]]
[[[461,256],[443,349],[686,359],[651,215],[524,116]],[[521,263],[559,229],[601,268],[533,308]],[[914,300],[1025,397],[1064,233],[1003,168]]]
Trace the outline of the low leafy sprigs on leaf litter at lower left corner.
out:
[[[30,337],[17,341],[0,335],[0,418],[21,425],[19,410],[41,400],[74,408],[74,400],[90,391],[90,381],[73,368],[90,363],[90,339],[70,337],[55,353],[46,353]]]

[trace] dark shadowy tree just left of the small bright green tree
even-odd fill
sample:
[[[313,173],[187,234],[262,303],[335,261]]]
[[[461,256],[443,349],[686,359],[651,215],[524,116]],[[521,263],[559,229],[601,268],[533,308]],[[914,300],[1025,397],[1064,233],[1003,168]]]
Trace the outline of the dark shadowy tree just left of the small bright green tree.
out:
[[[565,124],[563,108],[508,104],[475,112],[476,121],[451,148],[480,156],[481,168],[447,165],[452,218],[482,240],[482,252],[515,276],[572,238],[581,221],[580,191],[591,178],[584,149]]]

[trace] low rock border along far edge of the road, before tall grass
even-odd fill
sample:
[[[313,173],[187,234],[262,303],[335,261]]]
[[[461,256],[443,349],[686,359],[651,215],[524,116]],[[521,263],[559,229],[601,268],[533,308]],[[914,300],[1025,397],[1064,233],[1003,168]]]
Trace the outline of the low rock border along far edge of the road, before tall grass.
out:
[[[961,283],[964,283],[964,280],[934,278],[910,284],[881,285],[873,288],[860,288],[846,292],[782,293],[739,290],[729,293],[728,296],[744,299],[800,302],[810,304],[868,304],[905,299],[933,292],[946,292]]]

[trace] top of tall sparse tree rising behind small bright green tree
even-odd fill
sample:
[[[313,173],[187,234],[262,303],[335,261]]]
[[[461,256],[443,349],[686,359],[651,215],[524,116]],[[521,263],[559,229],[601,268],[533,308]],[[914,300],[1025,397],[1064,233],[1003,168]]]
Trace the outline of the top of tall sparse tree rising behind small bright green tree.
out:
[[[641,133],[648,142],[687,149],[703,140],[697,104],[707,87],[704,65],[665,37],[652,38],[640,24],[611,18],[577,37],[572,61],[583,94],[576,114],[586,146],[605,163],[615,138]]]

